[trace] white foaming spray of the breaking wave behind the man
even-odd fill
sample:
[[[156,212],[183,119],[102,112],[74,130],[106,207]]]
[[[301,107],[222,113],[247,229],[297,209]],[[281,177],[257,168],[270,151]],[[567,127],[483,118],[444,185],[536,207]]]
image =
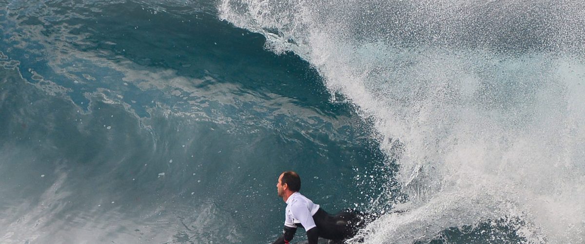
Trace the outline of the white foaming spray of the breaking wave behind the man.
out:
[[[585,242],[580,1],[223,0],[219,10],[375,119],[410,201],[371,224],[366,243],[501,218],[524,221],[510,227],[528,242]]]

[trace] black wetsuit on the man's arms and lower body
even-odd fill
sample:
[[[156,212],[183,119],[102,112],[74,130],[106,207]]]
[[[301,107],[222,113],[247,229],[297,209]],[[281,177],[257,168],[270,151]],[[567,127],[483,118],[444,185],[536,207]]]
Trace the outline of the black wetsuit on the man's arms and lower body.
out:
[[[346,209],[338,214],[331,215],[325,210],[319,210],[313,215],[316,228],[307,231],[309,244],[316,244],[319,237],[331,240],[329,243],[342,243],[343,240],[352,238],[359,229],[366,226],[370,217],[360,211]],[[303,227],[301,224],[297,224]],[[297,228],[284,227],[283,235],[280,236],[273,244],[285,244],[292,240]]]

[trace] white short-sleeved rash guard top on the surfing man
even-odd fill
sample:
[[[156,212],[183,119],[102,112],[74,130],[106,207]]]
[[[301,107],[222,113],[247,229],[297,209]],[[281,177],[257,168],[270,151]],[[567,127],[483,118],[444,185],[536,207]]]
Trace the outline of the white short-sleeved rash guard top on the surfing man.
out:
[[[301,224],[305,231],[315,227],[313,215],[319,210],[319,205],[314,204],[309,198],[300,193],[293,193],[287,199],[287,209],[284,211],[284,225],[297,228],[295,224]]]

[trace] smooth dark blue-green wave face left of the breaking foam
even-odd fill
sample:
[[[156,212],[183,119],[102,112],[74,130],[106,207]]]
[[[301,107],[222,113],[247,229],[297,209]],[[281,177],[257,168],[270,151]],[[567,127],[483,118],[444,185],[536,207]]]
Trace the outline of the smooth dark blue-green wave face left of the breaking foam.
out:
[[[212,4],[0,5],[3,243],[266,243],[284,170],[330,212],[385,198],[369,122]]]

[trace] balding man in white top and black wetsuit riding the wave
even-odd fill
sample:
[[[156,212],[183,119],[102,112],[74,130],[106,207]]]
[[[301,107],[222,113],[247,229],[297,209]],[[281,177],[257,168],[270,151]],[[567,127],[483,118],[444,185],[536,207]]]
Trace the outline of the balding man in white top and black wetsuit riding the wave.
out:
[[[319,237],[329,239],[329,243],[343,243],[352,238],[360,228],[367,224],[369,216],[350,209],[330,215],[298,191],[301,190],[301,177],[294,171],[286,171],[278,177],[276,184],[278,196],[287,203],[284,231],[273,244],[288,244],[297,232],[297,227],[307,231],[308,244],[317,244]]]

